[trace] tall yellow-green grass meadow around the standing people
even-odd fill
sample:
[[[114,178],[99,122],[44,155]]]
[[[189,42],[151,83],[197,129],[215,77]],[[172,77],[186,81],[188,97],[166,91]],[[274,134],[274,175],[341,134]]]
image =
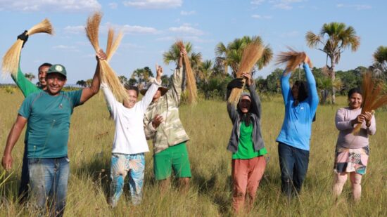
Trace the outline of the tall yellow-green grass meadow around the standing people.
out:
[[[6,93],[0,88],[0,150],[23,101],[20,91]],[[362,201],[353,204],[349,180],[343,195],[331,197],[334,147],[338,131],[334,116],[346,104],[319,106],[313,124],[310,164],[300,197],[288,200],[280,192],[277,137],[284,117],[280,96],[262,97],[262,135],[269,154],[255,207],[248,216],[387,216],[386,131],[387,111],[376,112],[376,135],[370,138],[370,159],[362,179]],[[191,140],[188,143],[192,178],[184,195],[176,187],[161,193],[153,179],[153,152],[146,153],[143,202],[132,206],[129,188],[115,209],[107,198],[110,183],[110,155],[114,136],[103,95],[77,107],[72,115],[68,154],[70,180],[65,216],[231,216],[231,153],[226,150],[231,121],[226,103],[203,100],[196,107],[182,105],[180,118]],[[17,194],[23,158],[23,138],[13,149],[13,170],[0,169],[0,216],[34,216],[18,205]],[[151,149],[152,145],[149,143]]]

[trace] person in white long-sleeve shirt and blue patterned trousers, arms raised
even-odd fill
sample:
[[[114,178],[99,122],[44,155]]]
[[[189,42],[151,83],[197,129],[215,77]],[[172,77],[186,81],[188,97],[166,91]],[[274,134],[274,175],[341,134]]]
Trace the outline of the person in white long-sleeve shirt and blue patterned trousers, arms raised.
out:
[[[110,184],[110,205],[113,207],[118,204],[118,199],[123,191],[125,176],[128,172],[132,203],[141,203],[145,169],[144,152],[149,151],[144,133],[143,118],[146,108],[151,104],[153,96],[161,84],[163,69],[158,66],[156,70],[156,79],[153,79],[146,95],[139,102],[137,102],[137,96],[139,96],[137,87],[127,88],[129,100],[121,103],[115,99],[106,84],[101,84],[103,94],[115,121],[110,168],[110,177],[112,179]]]

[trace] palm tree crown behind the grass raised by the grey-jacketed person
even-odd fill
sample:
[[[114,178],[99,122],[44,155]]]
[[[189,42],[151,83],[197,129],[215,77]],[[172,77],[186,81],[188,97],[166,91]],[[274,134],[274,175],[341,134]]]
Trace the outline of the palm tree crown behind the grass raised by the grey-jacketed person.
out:
[[[244,36],[241,39],[234,39],[227,46],[225,46],[222,42],[217,44],[215,47],[216,60],[215,65],[221,65],[224,73],[227,74],[228,67],[231,68],[231,74],[233,77],[236,77],[236,73],[238,72],[239,63],[241,62],[243,49],[246,45],[250,43],[258,43],[262,44],[263,41],[259,36],[248,37]],[[262,57],[258,60],[256,67],[258,70],[261,70],[267,64],[269,64],[270,60],[272,60],[273,51],[269,47],[269,45],[265,46]],[[252,74],[255,72],[255,68],[253,69]]]

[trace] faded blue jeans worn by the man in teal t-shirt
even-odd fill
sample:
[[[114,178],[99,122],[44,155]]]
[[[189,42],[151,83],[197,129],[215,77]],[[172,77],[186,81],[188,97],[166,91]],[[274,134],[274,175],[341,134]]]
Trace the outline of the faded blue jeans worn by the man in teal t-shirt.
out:
[[[65,211],[69,162],[68,157],[28,158],[31,202],[42,212],[49,207],[50,216],[63,216]]]

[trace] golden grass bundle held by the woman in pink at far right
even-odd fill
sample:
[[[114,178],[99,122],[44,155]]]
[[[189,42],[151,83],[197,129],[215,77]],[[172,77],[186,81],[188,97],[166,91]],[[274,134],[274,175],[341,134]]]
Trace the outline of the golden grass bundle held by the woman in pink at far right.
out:
[[[372,72],[363,74],[362,92],[362,114],[365,114],[365,112],[374,112],[379,107],[387,105],[387,93],[383,93],[383,84],[372,79]],[[361,127],[362,124],[357,124],[352,133],[358,134]]]

